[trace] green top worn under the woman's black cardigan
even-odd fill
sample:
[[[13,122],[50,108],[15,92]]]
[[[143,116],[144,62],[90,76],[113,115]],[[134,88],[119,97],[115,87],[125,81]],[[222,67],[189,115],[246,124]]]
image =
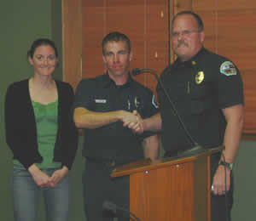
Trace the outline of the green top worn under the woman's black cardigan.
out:
[[[39,168],[61,167],[61,162],[53,161],[58,129],[58,100],[48,105],[32,100],[32,105],[37,124],[38,151],[43,157],[42,163],[36,165]],[[14,163],[21,165],[18,160],[14,160]]]

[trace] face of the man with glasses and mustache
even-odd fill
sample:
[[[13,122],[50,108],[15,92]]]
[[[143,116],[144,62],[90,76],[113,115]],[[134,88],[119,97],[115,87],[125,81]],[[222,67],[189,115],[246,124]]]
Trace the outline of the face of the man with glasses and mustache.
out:
[[[183,61],[191,59],[202,48],[204,31],[199,31],[197,20],[191,14],[177,16],[172,26],[172,47]]]

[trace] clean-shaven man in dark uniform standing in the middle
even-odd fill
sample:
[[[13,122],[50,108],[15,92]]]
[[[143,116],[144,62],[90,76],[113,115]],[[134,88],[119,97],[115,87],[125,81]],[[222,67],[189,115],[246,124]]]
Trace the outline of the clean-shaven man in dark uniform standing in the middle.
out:
[[[102,41],[102,53],[107,73],[82,80],[74,104],[74,122],[84,128],[84,212],[88,221],[113,220],[102,212],[103,201],[129,210],[130,179],[110,178],[113,167],[158,156],[157,135],[139,135],[124,127],[125,122],[137,122],[137,114],[150,117],[157,113],[152,91],[129,74],[129,38],[119,32],[109,33]]]

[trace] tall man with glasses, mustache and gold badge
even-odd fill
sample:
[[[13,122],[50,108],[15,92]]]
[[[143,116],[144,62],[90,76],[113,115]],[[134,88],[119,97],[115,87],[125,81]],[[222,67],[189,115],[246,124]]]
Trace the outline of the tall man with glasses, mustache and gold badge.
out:
[[[206,148],[224,144],[223,155],[211,157],[211,220],[227,221],[233,203],[232,163],[243,124],[243,88],[236,65],[203,48],[204,38],[203,22],[198,14],[183,11],[175,15],[172,47],[177,59],[160,77],[189,135],[160,85],[157,87],[160,114],[137,124],[131,122],[128,127],[137,133],[161,129],[168,156],[195,144]]]

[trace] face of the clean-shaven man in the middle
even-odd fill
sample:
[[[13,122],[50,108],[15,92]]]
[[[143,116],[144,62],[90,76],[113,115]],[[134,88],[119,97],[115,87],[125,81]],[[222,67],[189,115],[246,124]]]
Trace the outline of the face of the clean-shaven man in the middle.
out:
[[[110,77],[124,77],[128,75],[131,53],[126,42],[107,42],[104,47],[103,61],[107,66]]]

